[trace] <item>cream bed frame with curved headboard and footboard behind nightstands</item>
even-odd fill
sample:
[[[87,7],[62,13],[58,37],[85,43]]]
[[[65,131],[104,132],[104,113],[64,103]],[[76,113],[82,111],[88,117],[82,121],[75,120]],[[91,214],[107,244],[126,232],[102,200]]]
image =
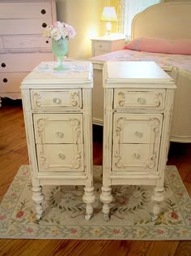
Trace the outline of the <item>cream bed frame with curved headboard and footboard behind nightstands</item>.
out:
[[[131,38],[191,38],[190,28],[191,2],[163,2],[148,7],[134,17]],[[91,61],[94,67],[93,123],[102,125],[104,109],[102,68],[104,63],[97,60]],[[177,119],[178,122],[176,122]],[[183,131],[185,128],[188,128],[188,131]],[[190,86],[187,85],[186,89],[184,85],[177,85],[170,140],[191,142],[191,78]]]

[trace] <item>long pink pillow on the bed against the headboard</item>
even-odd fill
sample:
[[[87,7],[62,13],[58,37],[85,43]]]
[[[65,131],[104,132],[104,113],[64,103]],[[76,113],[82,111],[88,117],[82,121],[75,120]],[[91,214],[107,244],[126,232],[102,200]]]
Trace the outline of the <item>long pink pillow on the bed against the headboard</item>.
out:
[[[164,39],[138,37],[129,41],[123,49],[163,54],[191,54],[191,39]]]

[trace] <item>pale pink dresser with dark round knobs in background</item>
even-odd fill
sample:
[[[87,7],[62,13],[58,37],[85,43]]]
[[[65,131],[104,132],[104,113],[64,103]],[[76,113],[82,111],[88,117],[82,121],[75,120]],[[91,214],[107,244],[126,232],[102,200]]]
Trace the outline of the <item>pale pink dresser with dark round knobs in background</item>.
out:
[[[0,2],[0,97],[21,98],[20,83],[41,61],[53,60],[43,37],[56,18],[55,0]]]

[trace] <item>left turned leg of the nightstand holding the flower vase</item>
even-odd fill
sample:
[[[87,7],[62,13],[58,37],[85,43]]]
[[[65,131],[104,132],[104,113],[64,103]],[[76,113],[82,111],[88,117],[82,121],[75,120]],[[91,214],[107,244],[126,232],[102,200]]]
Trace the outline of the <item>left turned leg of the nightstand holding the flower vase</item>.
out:
[[[43,206],[42,202],[44,201],[45,196],[42,193],[41,186],[32,186],[32,200],[36,205],[36,219],[41,219],[43,215]]]

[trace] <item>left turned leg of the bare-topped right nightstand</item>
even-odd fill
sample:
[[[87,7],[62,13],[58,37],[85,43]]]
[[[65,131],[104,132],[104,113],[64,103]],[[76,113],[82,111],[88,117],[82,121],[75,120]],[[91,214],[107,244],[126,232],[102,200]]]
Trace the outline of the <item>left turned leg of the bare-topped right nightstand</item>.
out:
[[[104,220],[109,220],[109,203],[112,202],[112,188],[111,187],[102,187],[102,193],[100,194],[100,201],[104,203],[102,211],[104,214]]]

